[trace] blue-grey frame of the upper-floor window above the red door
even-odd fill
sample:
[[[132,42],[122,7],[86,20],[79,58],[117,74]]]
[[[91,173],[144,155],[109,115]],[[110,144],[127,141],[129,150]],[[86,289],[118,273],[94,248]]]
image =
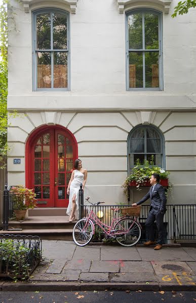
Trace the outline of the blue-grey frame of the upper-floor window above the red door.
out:
[[[53,45],[51,45],[51,49],[36,49],[36,16],[41,13],[61,13],[67,17],[67,49],[53,49]],[[37,88],[37,60],[36,53],[39,51],[50,52],[64,52],[67,53],[67,87],[64,88]],[[70,17],[69,12],[57,9],[57,8],[44,8],[35,10],[32,12],[32,78],[33,78],[33,91],[70,91]],[[53,72],[53,64],[52,64],[52,56],[51,56],[51,73]],[[51,75],[53,79],[53,75]],[[52,81],[51,81],[52,82]],[[54,83],[54,82],[53,82]]]

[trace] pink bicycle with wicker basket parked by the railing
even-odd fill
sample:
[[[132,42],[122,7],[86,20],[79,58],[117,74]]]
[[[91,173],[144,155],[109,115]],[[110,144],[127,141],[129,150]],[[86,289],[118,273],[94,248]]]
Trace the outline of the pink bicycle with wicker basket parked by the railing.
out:
[[[86,200],[93,206],[88,205],[88,216],[83,218],[73,227],[73,240],[79,246],[87,245],[95,233],[95,224],[97,224],[104,232],[105,238],[114,238],[123,246],[135,245],[141,237],[141,225],[137,221],[141,206],[130,208],[116,208],[111,209],[115,212],[111,221],[111,226],[101,222],[93,209],[104,202],[97,202],[95,204],[89,201],[89,197]],[[121,217],[116,218],[116,213],[123,214]],[[134,217],[130,217],[134,216]]]

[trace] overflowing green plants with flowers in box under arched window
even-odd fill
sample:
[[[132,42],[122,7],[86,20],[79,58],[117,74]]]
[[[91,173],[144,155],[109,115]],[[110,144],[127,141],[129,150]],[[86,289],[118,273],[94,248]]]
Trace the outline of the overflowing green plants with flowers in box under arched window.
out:
[[[137,159],[136,166],[133,168],[133,172],[126,178],[123,183],[124,191],[127,192],[129,186],[137,187],[137,190],[141,190],[141,186],[150,186],[150,177],[152,174],[160,175],[160,183],[163,186],[168,186],[169,172],[163,168],[154,165],[154,156],[151,156],[150,161],[145,160],[143,163]]]

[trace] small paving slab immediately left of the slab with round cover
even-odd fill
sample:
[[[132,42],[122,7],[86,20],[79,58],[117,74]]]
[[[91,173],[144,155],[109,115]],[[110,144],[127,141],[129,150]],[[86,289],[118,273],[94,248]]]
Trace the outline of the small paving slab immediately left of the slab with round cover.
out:
[[[124,261],[120,262],[121,272],[122,273],[153,273],[153,267],[148,261]]]

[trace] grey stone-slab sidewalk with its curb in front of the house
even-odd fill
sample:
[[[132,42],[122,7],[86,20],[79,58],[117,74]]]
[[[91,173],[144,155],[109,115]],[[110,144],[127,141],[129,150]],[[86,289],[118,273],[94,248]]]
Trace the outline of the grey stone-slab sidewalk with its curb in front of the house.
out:
[[[2,290],[196,290],[196,248],[123,247],[43,240],[44,260],[29,282]]]

